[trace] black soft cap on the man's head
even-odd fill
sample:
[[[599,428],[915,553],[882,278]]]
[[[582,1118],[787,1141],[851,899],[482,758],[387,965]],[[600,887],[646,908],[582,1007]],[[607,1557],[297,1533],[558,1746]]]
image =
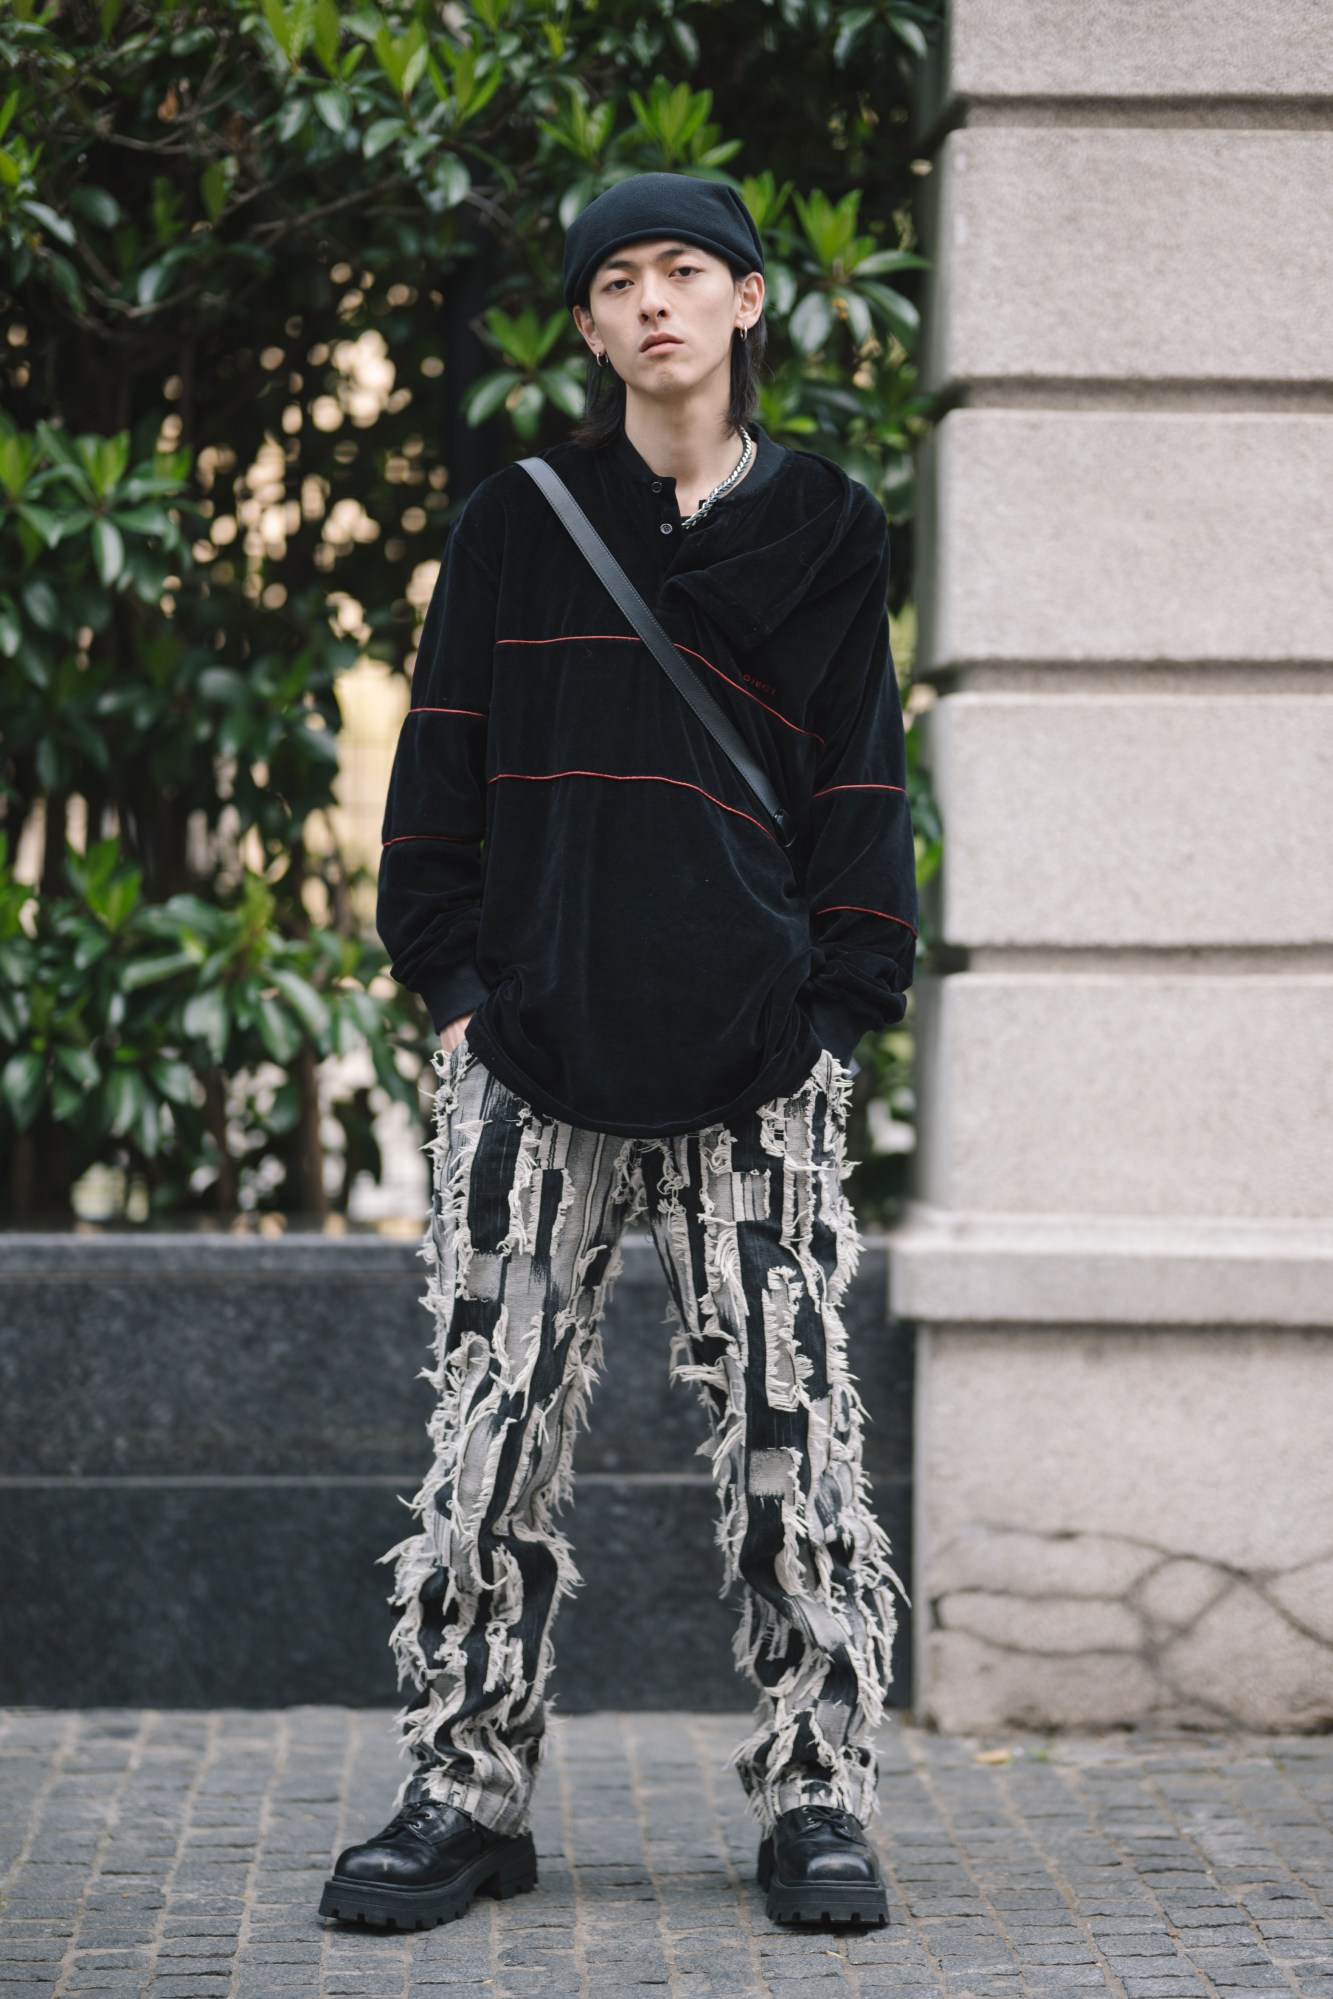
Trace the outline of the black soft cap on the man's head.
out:
[[[725,258],[731,270],[763,272],[763,242],[733,188],[695,174],[632,174],[598,194],[566,236],[566,306],[584,306],[598,264],[648,236],[679,236]]]

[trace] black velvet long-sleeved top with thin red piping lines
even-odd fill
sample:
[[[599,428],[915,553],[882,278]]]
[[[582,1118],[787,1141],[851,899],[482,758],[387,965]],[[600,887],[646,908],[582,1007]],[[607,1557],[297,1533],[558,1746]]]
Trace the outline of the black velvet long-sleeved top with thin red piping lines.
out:
[[[763,806],[520,466],[454,524],[384,816],[394,978],[536,1109],[731,1121],[901,1019],[917,938],[887,524],[761,426],[683,528],[624,428],[544,456],[797,822]]]

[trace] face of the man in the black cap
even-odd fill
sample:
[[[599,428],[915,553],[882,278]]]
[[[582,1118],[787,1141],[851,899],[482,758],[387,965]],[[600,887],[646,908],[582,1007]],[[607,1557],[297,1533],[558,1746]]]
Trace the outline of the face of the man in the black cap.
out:
[[[614,250],[574,318],[594,352],[648,396],[675,396],[729,366],[731,334],[757,318],[763,278],[737,286],[729,264],[671,236]],[[669,336],[656,346],[646,340]]]

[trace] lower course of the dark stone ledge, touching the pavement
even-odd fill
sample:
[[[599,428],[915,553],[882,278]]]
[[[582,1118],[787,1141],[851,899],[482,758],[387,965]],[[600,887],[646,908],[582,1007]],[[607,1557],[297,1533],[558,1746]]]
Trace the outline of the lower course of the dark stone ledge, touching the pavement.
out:
[[[390,1563],[412,1481],[88,1479],[0,1485],[0,1703],[402,1703]],[[907,1571],[909,1491],[875,1485]],[[731,1661],[707,1477],[584,1475],[558,1515],[582,1587],[560,1605],[552,1693],[602,1707],[747,1705]],[[907,1705],[899,1607],[893,1699]]]

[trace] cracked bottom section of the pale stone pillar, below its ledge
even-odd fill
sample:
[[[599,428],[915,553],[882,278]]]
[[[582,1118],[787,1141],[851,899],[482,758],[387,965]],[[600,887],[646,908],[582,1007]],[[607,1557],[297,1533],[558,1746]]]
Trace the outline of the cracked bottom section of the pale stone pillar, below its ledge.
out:
[[[935,1327],[917,1383],[931,1721],[1333,1725],[1333,1335]]]

